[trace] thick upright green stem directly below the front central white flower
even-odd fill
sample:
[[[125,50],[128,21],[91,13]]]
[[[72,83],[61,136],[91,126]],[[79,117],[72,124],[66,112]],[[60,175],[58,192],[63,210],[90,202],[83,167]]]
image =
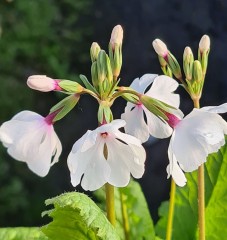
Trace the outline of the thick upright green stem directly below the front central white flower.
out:
[[[114,208],[114,186],[110,185],[109,183],[105,184],[106,188],[106,212],[107,218],[110,223],[115,226],[116,219],[115,219],[115,208]]]

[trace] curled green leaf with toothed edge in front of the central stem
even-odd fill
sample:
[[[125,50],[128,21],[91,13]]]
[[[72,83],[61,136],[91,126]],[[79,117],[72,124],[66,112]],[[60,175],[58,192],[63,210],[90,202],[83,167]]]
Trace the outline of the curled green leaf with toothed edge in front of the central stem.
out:
[[[50,240],[120,240],[101,209],[85,194],[72,192],[46,200],[53,221],[42,227]]]

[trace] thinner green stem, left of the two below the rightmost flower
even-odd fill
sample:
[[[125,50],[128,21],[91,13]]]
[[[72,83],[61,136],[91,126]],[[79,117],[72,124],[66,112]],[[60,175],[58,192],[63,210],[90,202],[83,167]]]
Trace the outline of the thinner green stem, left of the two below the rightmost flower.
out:
[[[176,192],[176,184],[172,178],[171,179],[171,188],[170,188],[168,222],[167,222],[167,229],[166,229],[166,240],[171,240],[171,238],[172,238],[175,192]]]

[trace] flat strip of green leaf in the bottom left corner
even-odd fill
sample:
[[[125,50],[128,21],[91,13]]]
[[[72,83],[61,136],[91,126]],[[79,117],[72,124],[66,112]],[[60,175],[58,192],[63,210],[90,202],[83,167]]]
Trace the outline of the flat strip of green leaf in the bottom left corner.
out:
[[[0,228],[1,240],[48,240],[38,227]]]

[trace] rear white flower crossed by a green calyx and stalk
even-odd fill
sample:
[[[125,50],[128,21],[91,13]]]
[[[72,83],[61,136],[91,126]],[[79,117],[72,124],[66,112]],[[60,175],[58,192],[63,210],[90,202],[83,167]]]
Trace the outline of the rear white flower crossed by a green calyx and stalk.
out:
[[[145,74],[140,79],[136,78],[130,87],[143,94],[151,83],[153,84],[145,95],[175,108],[179,107],[179,95],[173,93],[179,84],[170,77]],[[167,123],[160,120],[140,102],[137,104],[128,102],[121,118],[126,121],[125,132],[139,138],[142,142],[146,142],[150,134],[156,138],[166,138],[173,131]]]

